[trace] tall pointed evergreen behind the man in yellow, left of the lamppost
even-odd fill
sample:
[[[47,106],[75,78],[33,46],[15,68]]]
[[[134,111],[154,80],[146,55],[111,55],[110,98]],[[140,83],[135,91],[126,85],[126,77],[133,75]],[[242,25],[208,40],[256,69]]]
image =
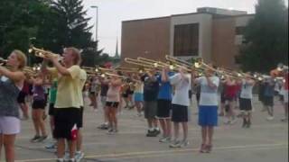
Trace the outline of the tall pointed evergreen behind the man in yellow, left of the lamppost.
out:
[[[98,50],[98,41],[92,40],[89,26],[90,18],[86,18],[87,11],[83,9],[81,0],[57,0],[51,3],[51,8],[57,14],[56,40],[58,52],[63,47],[74,46],[83,49],[83,65],[94,67],[102,50]]]

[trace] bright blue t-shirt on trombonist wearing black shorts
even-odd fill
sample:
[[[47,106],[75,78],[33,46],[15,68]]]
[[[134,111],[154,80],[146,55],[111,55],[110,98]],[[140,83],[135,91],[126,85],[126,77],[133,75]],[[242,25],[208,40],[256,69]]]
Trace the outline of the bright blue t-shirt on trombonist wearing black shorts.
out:
[[[169,77],[173,76],[172,72],[169,72]],[[157,99],[163,100],[172,100],[172,85],[170,81],[163,82],[162,75],[157,76],[157,81],[159,82],[159,94],[157,95]]]

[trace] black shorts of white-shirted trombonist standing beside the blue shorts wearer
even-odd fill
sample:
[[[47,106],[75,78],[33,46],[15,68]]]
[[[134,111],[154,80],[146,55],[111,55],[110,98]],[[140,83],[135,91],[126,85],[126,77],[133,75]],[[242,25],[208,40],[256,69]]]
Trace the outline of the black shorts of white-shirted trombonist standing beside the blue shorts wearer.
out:
[[[188,122],[188,106],[172,103],[172,121]]]

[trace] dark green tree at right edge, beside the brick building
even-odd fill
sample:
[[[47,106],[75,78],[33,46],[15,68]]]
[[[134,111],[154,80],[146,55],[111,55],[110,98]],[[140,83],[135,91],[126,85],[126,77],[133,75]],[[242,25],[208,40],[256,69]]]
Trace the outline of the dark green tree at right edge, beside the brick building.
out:
[[[258,0],[255,17],[245,30],[247,43],[238,57],[243,70],[268,72],[279,62],[288,65],[287,16],[283,0]]]

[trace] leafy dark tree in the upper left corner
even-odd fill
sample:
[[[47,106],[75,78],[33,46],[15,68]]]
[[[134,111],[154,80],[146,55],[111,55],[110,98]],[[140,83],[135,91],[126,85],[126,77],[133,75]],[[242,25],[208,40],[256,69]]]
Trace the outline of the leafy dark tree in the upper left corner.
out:
[[[49,12],[46,0],[1,0],[1,57],[7,57],[13,49],[21,49],[27,53],[31,38],[38,37],[42,26],[47,24]]]

